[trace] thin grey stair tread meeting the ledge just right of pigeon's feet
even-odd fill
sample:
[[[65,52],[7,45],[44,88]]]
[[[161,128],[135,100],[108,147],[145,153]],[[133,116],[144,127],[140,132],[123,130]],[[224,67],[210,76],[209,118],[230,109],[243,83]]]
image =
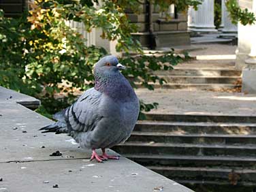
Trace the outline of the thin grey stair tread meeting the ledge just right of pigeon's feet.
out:
[[[170,160],[202,160],[202,161],[256,161],[256,157],[229,157],[229,156],[194,156],[194,155],[146,155],[146,154],[123,154],[127,158],[144,159],[170,159]]]

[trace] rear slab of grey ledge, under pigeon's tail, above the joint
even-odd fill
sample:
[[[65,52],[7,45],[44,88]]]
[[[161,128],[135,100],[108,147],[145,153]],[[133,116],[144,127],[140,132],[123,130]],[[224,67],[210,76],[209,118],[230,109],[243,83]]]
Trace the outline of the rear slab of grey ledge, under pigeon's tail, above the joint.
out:
[[[0,108],[0,148],[4,153],[0,156],[0,162],[66,159],[69,156],[89,158],[89,150],[84,153],[84,150],[78,148],[78,144],[71,144],[71,138],[67,135],[42,134],[37,131],[51,123],[48,118],[16,103],[0,103]],[[63,157],[49,157],[56,150],[60,150]]]

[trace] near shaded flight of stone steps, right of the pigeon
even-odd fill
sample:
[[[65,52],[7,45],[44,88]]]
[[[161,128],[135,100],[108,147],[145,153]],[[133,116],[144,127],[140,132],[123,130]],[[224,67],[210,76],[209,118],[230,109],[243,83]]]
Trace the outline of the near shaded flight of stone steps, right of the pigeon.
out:
[[[197,192],[256,189],[256,116],[148,114],[112,149]]]

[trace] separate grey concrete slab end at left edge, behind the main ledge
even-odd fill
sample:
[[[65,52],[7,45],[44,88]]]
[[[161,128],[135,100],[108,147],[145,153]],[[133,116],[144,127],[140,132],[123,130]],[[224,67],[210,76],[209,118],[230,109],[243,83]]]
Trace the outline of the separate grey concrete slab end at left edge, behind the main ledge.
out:
[[[40,101],[34,97],[30,97],[29,95],[18,93],[0,86],[0,103],[2,102],[20,103],[22,106],[32,109],[38,108],[40,105]]]

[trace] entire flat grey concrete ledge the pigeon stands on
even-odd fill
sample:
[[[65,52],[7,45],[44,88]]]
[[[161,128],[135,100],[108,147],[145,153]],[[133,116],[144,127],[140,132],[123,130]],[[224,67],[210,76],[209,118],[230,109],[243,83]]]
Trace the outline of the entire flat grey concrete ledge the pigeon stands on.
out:
[[[0,101],[0,178],[3,178],[0,191],[148,192],[156,187],[171,192],[191,191],[123,157],[119,161],[90,162],[91,151],[78,148],[67,135],[37,131],[51,123],[48,118],[3,98]],[[50,157],[56,150],[62,156]],[[59,185],[59,189],[53,185]]]

